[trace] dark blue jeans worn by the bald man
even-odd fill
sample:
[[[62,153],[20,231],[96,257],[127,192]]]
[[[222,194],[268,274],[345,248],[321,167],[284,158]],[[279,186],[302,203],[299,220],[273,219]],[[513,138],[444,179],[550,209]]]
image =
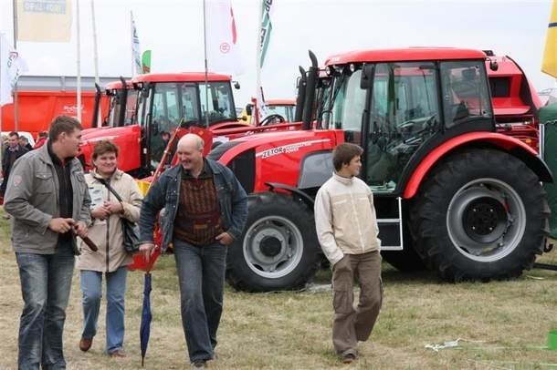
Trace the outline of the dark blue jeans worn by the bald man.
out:
[[[177,239],[173,244],[190,361],[211,360],[223,312],[227,247],[220,243],[196,247]]]

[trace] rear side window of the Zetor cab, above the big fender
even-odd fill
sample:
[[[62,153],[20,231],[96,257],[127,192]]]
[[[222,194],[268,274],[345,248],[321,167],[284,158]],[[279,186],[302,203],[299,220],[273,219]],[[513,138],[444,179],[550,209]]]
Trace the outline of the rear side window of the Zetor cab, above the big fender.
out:
[[[454,127],[469,118],[491,118],[488,82],[483,61],[441,64],[445,125]]]

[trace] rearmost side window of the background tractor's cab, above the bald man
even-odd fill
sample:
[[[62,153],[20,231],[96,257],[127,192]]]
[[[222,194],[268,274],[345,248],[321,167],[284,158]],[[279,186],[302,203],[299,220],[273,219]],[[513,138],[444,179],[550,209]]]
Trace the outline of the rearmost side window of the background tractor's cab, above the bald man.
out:
[[[204,121],[205,115],[209,116],[209,125],[220,121],[236,120],[232,89],[228,82],[199,84],[199,100]],[[207,104],[208,108],[206,108]]]

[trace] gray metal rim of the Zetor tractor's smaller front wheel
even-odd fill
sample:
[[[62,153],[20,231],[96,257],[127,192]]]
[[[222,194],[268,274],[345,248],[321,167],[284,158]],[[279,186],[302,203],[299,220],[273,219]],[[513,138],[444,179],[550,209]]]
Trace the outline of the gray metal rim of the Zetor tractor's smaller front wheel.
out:
[[[300,230],[284,217],[261,218],[246,231],[244,258],[259,276],[278,279],[288,275],[300,263],[302,252]]]

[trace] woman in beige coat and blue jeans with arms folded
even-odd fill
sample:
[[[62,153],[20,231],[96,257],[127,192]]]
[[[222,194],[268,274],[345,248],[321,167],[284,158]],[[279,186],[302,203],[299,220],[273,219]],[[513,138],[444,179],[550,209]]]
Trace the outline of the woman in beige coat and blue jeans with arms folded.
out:
[[[124,296],[131,254],[123,246],[121,218],[130,221],[139,219],[142,194],[135,180],[116,168],[118,147],[112,142],[103,140],[97,143],[92,158],[94,170],[85,175],[91,196],[92,225],[89,227],[89,238],[97,244],[99,251],[81,248],[79,256],[83,293],[83,333],[79,348],[88,351],[97,334],[104,274],[107,284],[106,352],[110,356],[122,357]],[[110,183],[120,195],[121,202],[101,180]]]

